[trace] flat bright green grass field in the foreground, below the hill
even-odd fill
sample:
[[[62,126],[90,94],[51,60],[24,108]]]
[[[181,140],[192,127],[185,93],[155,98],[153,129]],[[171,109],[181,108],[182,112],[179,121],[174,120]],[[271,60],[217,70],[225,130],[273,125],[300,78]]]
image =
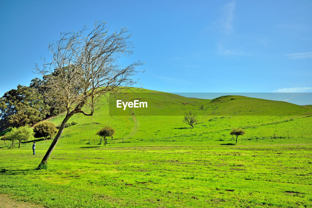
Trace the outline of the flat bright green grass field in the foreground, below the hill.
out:
[[[1,193],[46,207],[311,207],[312,145],[0,151]]]

